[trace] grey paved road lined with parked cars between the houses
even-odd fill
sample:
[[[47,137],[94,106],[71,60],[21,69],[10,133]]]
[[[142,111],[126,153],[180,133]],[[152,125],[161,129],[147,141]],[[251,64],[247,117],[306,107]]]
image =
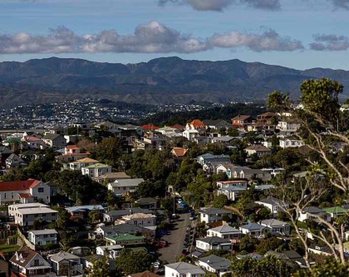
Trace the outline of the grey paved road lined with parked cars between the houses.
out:
[[[160,260],[166,260],[172,263],[176,262],[176,258],[181,256],[187,226],[191,224],[189,216],[189,212],[180,214],[180,218],[174,221],[174,229],[171,230],[167,236],[162,237],[169,243],[169,246],[159,249],[159,253],[161,254],[161,256],[159,256]]]

